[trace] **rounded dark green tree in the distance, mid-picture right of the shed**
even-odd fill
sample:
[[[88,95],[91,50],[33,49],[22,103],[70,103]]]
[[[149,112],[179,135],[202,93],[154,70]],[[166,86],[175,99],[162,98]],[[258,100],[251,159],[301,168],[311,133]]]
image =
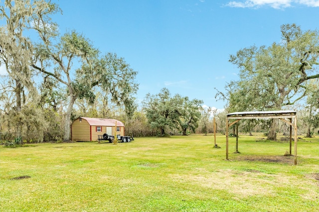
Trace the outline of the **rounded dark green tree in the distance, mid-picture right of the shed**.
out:
[[[186,135],[187,130],[195,132],[202,103],[178,94],[171,97],[169,90],[162,88],[156,95],[146,95],[144,108],[151,127],[157,129],[160,136],[167,135],[168,129],[178,129]]]

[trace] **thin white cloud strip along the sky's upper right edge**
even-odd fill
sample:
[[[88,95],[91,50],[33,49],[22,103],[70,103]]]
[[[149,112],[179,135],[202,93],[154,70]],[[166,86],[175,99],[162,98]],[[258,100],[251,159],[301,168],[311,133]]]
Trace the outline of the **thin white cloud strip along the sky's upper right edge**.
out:
[[[241,8],[259,8],[262,6],[270,6],[275,9],[286,8],[303,4],[311,7],[319,6],[319,0],[245,0],[245,1],[230,1],[226,6],[241,7]]]

